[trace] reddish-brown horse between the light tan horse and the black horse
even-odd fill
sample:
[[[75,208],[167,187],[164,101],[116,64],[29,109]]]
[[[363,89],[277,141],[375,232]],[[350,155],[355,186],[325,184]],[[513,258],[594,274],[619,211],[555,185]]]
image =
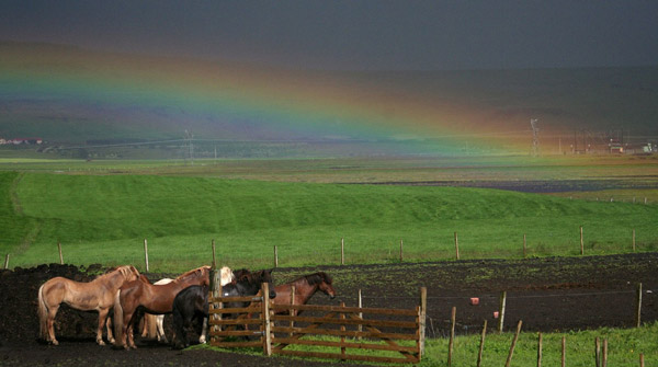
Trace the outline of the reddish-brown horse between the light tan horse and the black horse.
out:
[[[138,319],[137,311],[144,310],[154,314],[171,313],[173,298],[179,291],[193,285],[209,285],[209,266],[201,266],[164,285],[134,280],[121,287],[114,298],[116,345],[126,349],[137,348],[133,339],[133,328]]]

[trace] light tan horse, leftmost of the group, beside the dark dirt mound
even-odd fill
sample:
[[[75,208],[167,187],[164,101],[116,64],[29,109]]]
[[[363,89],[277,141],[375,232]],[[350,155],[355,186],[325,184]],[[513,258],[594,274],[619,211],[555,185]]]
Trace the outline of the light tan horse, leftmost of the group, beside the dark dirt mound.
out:
[[[44,283],[38,288],[41,337],[54,345],[59,344],[55,337],[53,322],[59,306],[64,302],[78,310],[99,312],[97,343],[104,345],[103,324],[107,320],[110,309],[114,306],[114,295],[125,283],[133,282],[138,277],[139,272],[135,266],[124,265],[112,268],[89,283],[70,280],[60,276]],[[109,323],[107,341],[114,343]]]

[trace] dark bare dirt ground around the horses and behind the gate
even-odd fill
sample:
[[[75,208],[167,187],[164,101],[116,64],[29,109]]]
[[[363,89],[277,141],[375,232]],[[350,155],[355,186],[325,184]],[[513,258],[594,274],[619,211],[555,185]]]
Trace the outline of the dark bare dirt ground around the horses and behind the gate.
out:
[[[344,366],[339,362],[264,357],[208,349],[173,351],[156,341],[137,337],[138,349],[123,351],[94,343],[97,313],[63,307],[56,319],[59,346],[38,341],[36,293],[55,276],[88,282],[100,265],[77,268],[41,265],[0,271],[0,366]],[[501,293],[507,291],[506,325],[524,331],[567,331],[601,326],[631,328],[635,322],[636,285],[643,284],[643,322],[658,320],[658,253],[610,256],[546,257],[519,261],[477,260],[386,265],[277,268],[275,284],[316,271],[333,277],[339,296],[318,294],[310,303],[356,305],[362,290],[364,307],[415,308],[420,287],[428,288],[428,337],[450,332],[456,307],[457,334],[479,333],[484,320],[494,330]],[[157,280],[171,274],[148,274]],[[479,305],[470,305],[478,297]],[[170,317],[166,319],[171,335]]]

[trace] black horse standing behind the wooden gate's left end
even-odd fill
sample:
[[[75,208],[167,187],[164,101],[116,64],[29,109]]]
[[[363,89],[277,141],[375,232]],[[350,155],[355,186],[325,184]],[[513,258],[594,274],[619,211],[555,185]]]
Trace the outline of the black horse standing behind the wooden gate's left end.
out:
[[[253,296],[259,293],[261,284],[268,283],[270,286],[270,298],[276,297],[274,286],[272,285],[272,271],[259,271],[249,273],[247,271],[234,272],[236,279],[222,287],[223,297],[242,297]],[[183,348],[190,345],[185,329],[196,321],[196,332],[203,332],[204,319],[208,318],[208,293],[207,286],[190,286],[181,290],[173,299],[173,347]],[[241,308],[249,306],[250,302],[230,302],[226,303],[229,308]]]

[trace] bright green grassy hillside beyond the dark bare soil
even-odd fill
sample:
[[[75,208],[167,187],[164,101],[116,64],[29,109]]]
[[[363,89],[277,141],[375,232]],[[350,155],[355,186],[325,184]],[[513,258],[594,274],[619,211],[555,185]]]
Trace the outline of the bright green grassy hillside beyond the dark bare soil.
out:
[[[496,190],[277,183],[157,175],[0,173],[0,253],[11,266],[57,262],[184,269],[217,256],[231,266],[656,250],[658,207]]]

